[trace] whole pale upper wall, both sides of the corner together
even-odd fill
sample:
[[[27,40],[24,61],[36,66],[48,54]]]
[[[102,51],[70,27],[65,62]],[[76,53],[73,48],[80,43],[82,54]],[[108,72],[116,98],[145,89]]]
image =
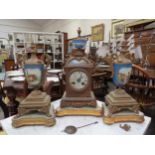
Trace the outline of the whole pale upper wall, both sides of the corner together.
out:
[[[63,31],[68,33],[68,38],[77,37],[77,29],[81,27],[82,34],[91,34],[91,26],[104,23],[104,41],[109,40],[109,31],[111,29],[110,19],[52,19],[43,27],[28,19],[0,19],[0,38],[7,37],[9,32],[29,31],[29,32],[56,32]]]

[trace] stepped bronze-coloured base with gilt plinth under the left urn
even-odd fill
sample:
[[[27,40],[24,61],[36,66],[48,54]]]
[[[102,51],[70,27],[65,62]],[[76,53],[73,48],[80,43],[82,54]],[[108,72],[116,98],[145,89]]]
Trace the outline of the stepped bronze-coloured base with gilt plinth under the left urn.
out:
[[[13,117],[12,126],[17,128],[26,125],[53,126],[54,109],[50,96],[39,90],[32,91],[19,105],[18,114]]]

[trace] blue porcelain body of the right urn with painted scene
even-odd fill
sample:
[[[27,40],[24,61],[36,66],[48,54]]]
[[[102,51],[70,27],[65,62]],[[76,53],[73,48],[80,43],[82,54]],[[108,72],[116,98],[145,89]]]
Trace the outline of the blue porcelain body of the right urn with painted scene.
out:
[[[115,63],[113,64],[113,69],[114,69],[113,82],[115,83],[116,86],[122,87],[128,82],[130,78],[132,64]]]

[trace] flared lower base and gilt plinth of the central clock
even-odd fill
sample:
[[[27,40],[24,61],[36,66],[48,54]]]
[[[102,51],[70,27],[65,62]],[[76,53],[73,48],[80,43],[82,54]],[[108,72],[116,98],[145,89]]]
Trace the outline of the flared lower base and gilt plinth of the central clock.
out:
[[[103,108],[97,106],[93,92],[91,97],[67,97],[64,93],[61,106],[56,110],[56,116],[103,116]]]

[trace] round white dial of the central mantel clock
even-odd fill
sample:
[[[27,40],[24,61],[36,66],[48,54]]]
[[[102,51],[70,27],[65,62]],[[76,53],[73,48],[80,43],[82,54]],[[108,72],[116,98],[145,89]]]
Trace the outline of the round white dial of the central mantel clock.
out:
[[[88,76],[85,72],[75,71],[69,77],[70,86],[75,90],[83,90],[88,85]]]

